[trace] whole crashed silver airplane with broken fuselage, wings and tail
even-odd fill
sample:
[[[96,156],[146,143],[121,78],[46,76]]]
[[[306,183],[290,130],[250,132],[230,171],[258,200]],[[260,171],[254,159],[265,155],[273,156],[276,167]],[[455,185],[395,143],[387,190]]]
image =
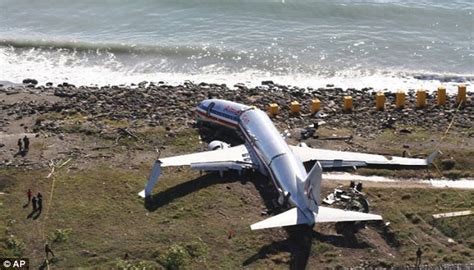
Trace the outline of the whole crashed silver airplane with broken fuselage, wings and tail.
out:
[[[278,132],[268,115],[253,106],[222,100],[208,99],[196,108],[197,120],[234,130],[244,144],[231,147],[221,141],[209,143],[209,150],[174,157],[159,158],[153,165],[145,189],[139,193],[149,198],[157,183],[162,167],[189,166],[200,171],[256,170],[273,181],[279,192],[278,203],[293,208],[263,221],[252,224],[252,230],[323,222],[382,220],[380,215],[346,211],[321,206],[320,190],[323,168],[360,166],[428,166],[438,154],[427,159],[385,157],[290,146]],[[315,162],[307,172],[304,162]]]

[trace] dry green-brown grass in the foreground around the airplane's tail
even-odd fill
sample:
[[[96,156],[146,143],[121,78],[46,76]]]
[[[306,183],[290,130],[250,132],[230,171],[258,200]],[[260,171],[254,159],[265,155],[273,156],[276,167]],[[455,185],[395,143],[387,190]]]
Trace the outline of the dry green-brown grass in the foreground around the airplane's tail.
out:
[[[12,184],[2,190],[6,195],[1,197],[4,210],[0,215],[6,224],[1,228],[1,256],[23,255],[38,265],[44,242],[49,241],[57,255],[52,264],[60,268],[286,268],[290,263],[294,249],[284,230],[249,229],[265,218],[261,216],[264,203],[252,184],[256,176],[249,176],[252,181],[243,184],[237,176],[221,179],[166,170],[154,191],[156,196],[144,205],[137,192],[148,170],[106,164],[87,170],[66,166],[50,179],[45,178],[46,170],[35,174],[2,170],[0,174]],[[42,191],[45,205],[51,203],[48,215],[45,209],[37,219],[26,218],[31,210],[22,206],[30,187]],[[369,229],[351,243],[332,236],[333,226],[317,226],[310,240],[308,265],[354,266],[361,261],[404,265],[414,261],[416,244],[423,247],[423,258],[429,263],[472,260],[472,216],[435,221],[431,215],[472,209],[474,192],[370,189],[368,193],[374,211],[391,222],[394,238],[383,241]]]

